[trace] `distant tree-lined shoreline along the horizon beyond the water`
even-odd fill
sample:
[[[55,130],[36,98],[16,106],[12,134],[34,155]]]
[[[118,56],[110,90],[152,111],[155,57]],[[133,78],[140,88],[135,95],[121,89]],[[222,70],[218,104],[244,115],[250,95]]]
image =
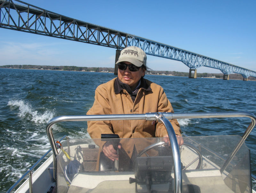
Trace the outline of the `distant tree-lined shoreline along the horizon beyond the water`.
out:
[[[77,67],[77,66],[44,66],[44,65],[4,65],[0,68],[18,68],[18,69],[41,69],[41,70],[63,70],[63,71],[94,71],[94,72],[114,72],[114,68],[107,67]],[[188,72],[177,72],[177,71],[148,71],[147,74],[160,74],[160,75],[172,75],[172,76],[183,76],[188,77]],[[197,73],[196,76],[200,77],[211,77],[211,78],[223,78],[222,73]],[[229,74],[229,79],[243,80],[241,74]],[[248,80],[256,80],[254,77],[249,77]]]

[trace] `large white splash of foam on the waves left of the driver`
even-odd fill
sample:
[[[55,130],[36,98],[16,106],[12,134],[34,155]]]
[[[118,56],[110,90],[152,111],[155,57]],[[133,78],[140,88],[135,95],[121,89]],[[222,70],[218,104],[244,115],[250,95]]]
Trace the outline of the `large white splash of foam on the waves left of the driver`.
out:
[[[39,113],[37,110],[34,110],[28,102],[24,102],[24,100],[10,100],[8,102],[8,106],[18,107],[18,115],[20,117],[29,115],[30,121],[35,123],[46,123],[54,116],[54,112],[48,110],[46,110],[43,114]]]

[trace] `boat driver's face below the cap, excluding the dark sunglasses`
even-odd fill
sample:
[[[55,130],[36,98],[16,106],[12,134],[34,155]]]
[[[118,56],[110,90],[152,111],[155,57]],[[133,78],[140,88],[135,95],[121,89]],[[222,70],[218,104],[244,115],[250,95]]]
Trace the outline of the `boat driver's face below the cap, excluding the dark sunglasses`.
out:
[[[125,63],[127,65],[132,64],[130,62],[123,62],[123,63]],[[139,71],[135,71],[135,72],[129,71],[128,67],[124,71],[118,69],[118,78],[119,78],[119,80],[121,80],[121,82],[129,85],[132,90],[134,90],[136,88],[140,78],[143,75],[145,75],[145,69],[144,68],[140,68]]]

